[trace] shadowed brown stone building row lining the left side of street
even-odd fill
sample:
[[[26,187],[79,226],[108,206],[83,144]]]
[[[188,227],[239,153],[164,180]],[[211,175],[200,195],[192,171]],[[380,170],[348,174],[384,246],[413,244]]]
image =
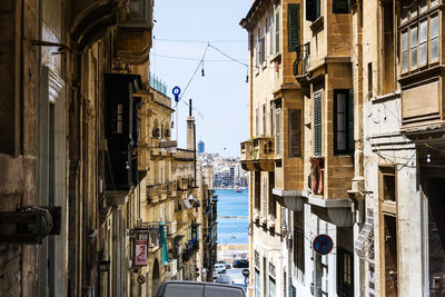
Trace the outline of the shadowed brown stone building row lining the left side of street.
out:
[[[151,295],[178,277],[161,250],[191,219],[175,224],[172,110],[149,87],[152,9],[2,2],[1,296]]]

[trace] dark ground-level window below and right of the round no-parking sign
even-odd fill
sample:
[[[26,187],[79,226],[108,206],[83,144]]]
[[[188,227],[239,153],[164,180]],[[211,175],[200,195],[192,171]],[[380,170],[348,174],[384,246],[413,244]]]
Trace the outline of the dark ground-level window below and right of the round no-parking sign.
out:
[[[343,248],[337,249],[337,294],[354,296],[354,255]]]

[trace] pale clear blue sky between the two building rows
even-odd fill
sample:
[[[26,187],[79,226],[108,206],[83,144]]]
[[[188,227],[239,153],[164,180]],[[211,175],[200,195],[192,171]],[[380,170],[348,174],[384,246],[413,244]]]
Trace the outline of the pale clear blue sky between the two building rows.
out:
[[[225,53],[248,63],[247,32],[239,26],[239,21],[246,16],[250,3],[250,0],[155,1],[150,70],[167,83],[171,98],[172,87],[179,86],[184,91],[206,50],[207,42],[192,40],[210,41]],[[201,139],[208,152],[239,156],[239,142],[248,138],[247,69],[209,48],[204,70],[205,77],[201,77],[199,69],[182,97],[187,102],[191,98],[194,107],[202,113],[200,116],[194,110],[197,142]],[[180,102],[179,147],[182,148],[186,147],[187,116],[188,107]]]

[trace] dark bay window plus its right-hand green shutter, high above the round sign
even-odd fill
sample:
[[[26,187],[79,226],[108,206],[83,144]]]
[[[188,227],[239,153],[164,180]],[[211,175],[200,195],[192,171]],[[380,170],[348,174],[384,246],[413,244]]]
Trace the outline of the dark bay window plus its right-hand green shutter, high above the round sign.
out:
[[[334,154],[354,154],[353,90],[334,90]]]

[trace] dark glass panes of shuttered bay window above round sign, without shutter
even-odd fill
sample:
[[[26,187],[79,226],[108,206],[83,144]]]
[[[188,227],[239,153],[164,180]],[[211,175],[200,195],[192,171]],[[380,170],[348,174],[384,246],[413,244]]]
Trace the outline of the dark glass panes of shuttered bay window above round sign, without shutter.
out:
[[[348,149],[347,93],[343,90],[335,90],[334,96],[334,151],[342,154]]]

